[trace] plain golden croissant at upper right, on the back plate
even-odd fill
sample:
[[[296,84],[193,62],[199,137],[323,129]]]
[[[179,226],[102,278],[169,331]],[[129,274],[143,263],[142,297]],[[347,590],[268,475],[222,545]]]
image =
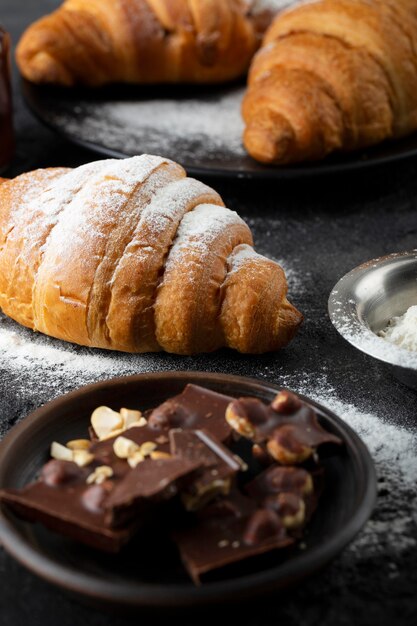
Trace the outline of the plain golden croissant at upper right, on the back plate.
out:
[[[265,163],[317,160],[417,129],[415,0],[317,0],[279,14],[255,56],[244,144]]]

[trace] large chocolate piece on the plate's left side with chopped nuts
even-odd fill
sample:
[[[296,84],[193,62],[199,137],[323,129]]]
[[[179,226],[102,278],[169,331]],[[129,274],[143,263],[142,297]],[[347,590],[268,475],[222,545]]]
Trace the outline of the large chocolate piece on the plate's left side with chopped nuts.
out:
[[[0,501],[50,530],[117,552],[147,518],[151,503],[173,497],[179,481],[197,467],[181,458],[146,459],[133,469],[122,459],[113,466],[94,460],[83,468],[54,459],[36,482],[2,490]]]

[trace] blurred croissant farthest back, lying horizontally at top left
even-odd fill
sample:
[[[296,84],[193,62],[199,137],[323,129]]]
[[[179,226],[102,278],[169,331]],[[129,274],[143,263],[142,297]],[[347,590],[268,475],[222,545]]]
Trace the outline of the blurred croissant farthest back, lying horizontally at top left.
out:
[[[65,86],[223,82],[246,73],[271,22],[257,4],[66,0],[24,33],[17,63],[30,81]]]

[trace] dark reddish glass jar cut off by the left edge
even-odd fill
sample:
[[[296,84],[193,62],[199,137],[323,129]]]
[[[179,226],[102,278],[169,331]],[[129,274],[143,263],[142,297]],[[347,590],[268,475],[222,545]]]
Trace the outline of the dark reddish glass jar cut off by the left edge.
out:
[[[10,37],[0,26],[0,173],[10,163],[13,149]]]

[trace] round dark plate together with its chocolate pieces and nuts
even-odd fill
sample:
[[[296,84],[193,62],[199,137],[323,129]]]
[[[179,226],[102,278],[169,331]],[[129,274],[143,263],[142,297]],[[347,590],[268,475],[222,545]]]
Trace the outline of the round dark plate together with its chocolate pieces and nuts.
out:
[[[4,438],[0,539],[100,605],[208,604],[317,572],[375,494],[365,445],[312,400],[224,374],[139,374],[61,396]]]

